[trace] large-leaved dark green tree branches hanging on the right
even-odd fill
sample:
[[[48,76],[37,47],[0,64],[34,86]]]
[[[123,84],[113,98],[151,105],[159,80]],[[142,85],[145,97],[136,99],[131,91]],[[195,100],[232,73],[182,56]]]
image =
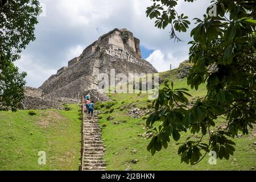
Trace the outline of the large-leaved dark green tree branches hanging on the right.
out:
[[[180,40],[176,32],[186,32],[188,16],[175,10],[177,0],[152,0],[147,16],[156,18],[155,26],[171,24],[171,38]],[[194,0],[184,0],[193,2]],[[200,140],[188,138],[180,143],[181,162],[196,164],[210,152],[217,158],[229,159],[234,154],[234,138],[238,131],[249,134],[256,120],[256,2],[254,0],[217,0],[207,9],[204,19],[195,18],[191,31],[189,61],[193,67],[187,78],[196,90],[207,84],[207,96],[188,108],[187,89],[174,89],[166,84],[154,102],[154,112],[147,126],[154,133],[148,151],[152,155],[167,148],[170,137],[180,140],[182,132],[200,134]],[[216,13],[214,16],[212,16]],[[219,118],[226,127],[213,129]],[[155,122],[160,124],[155,127]],[[205,142],[207,141],[207,142]]]

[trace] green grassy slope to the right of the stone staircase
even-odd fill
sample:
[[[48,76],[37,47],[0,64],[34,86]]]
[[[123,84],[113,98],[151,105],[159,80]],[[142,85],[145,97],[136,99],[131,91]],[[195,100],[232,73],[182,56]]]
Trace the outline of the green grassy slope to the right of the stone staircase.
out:
[[[176,88],[188,88],[187,81],[177,80],[171,77],[172,72],[160,73],[160,77],[171,78],[169,82],[174,81]],[[175,74],[175,73],[174,73]],[[169,76],[168,76],[169,75]],[[160,86],[162,87],[162,86]],[[205,96],[205,85],[201,85],[198,91],[191,90],[192,96],[201,97]],[[206,156],[201,163],[195,166],[180,163],[180,157],[177,155],[177,149],[174,140],[171,140],[167,150],[162,151],[152,156],[147,151],[147,144],[150,140],[142,137],[146,132],[145,118],[134,119],[127,114],[130,108],[137,107],[142,110],[148,110],[151,103],[148,101],[147,94],[112,94],[115,105],[106,109],[104,105],[100,109],[100,123],[102,126],[102,138],[106,146],[105,160],[108,164],[108,170],[124,170],[128,166],[132,170],[250,170],[255,168],[255,145],[256,133],[255,130],[251,131],[248,136],[234,139],[236,142],[236,152],[230,160],[217,160],[216,165],[210,165],[208,160],[210,156]],[[129,107],[132,104],[134,106]],[[110,113],[112,111],[112,113]],[[102,114],[103,113],[103,114]],[[114,117],[113,120],[108,121],[109,117]],[[220,119],[219,126],[224,123]],[[191,133],[183,133],[181,142],[187,137],[198,139],[199,136],[192,135]],[[134,150],[135,149],[135,150]],[[134,151],[134,152],[133,152]],[[136,151],[136,152],[135,152]]]

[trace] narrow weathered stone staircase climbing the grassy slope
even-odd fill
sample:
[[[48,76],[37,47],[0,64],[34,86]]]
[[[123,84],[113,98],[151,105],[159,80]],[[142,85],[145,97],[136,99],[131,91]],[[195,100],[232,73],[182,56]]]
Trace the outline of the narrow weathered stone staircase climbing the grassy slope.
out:
[[[90,116],[85,111],[84,119],[84,166],[83,171],[105,171],[104,144],[97,114]]]

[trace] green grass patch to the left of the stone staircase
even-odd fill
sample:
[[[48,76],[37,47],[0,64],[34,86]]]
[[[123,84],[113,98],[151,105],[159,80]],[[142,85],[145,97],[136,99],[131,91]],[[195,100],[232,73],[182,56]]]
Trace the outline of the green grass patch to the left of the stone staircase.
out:
[[[77,105],[71,111],[0,112],[0,170],[77,170],[81,121]],[[46,152],[46,165],[38,152]]]

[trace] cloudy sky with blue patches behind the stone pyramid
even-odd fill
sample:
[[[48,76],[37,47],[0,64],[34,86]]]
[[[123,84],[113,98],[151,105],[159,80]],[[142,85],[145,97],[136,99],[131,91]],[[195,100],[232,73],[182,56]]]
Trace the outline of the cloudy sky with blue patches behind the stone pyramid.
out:
[[[150,0],[40,0],[46,16],[39,17],[36,40],[22,53],[15,64],[27,72],[27,86],[38,88],[68,61],[101,35],[114,28],[127,28],[141,40],[143,58],[159,72],[178,67],[188,59],[189,31],[178,34],[184,41],[169,39],[170,27],[159,30],[154,20],[146,17]],[[179,1],[176,10],[192,19],[203,17],[210,0],[194,3]],[[194,27],[193,23],[191,28]]]

